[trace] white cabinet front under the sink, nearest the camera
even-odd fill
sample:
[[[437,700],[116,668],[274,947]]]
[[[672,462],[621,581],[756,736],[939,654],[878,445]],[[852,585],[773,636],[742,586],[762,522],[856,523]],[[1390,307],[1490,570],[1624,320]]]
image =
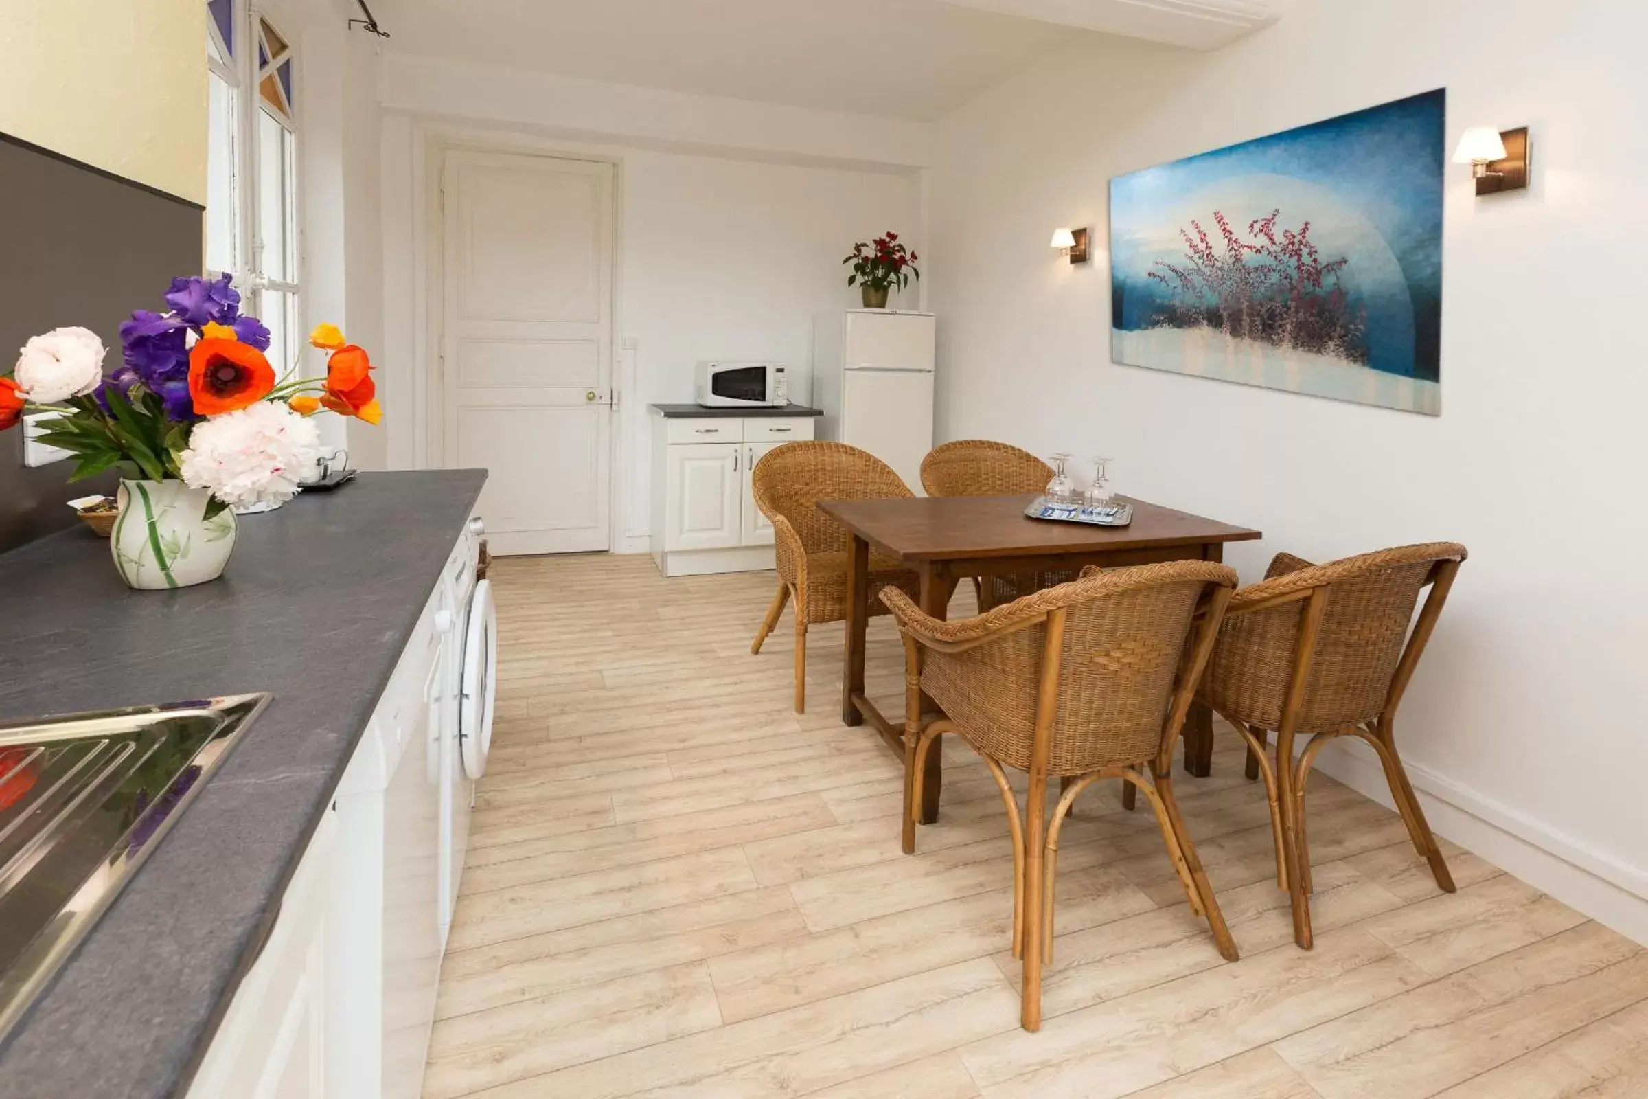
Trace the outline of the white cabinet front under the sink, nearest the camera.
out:
[[[326,1089],[326,914],[338,814],[328,811],[298,863],[264,949],[201,1061],[190,1099],[321,1099]]]

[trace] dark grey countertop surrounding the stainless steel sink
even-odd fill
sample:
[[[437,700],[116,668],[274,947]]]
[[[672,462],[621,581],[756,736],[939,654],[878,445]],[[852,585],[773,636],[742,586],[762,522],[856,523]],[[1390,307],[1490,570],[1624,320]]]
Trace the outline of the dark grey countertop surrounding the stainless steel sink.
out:
[[[127,592],[86,529],[0,557],[0,720],[274,694],[0,1046],[0,1097],[181,1094],[485,479],[298,496],[181,592]]]

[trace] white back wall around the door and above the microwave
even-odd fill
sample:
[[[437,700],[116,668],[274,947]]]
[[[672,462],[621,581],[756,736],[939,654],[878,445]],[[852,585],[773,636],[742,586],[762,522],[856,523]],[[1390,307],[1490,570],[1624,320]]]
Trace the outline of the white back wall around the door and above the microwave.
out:
[[[430,71],[432,82],[414,79]],[[793,364],[799,374],[793,394],[803,399],[812,313],[855,303],[840,257],[887,229],[921,250],[916,161],[926,155],[926,129],[592,81],[577,82],[590,99],[506,94],[522,82],[557,79],[389,59],[384,96],[394,114],[382,142],[389,461],[432,461],[420,445],[427,400],[419,392],[427,356],[420,318],[438,308],[424,285],[430,140],[613,160],[618,348],[633,344],[615,362],[621,390],[615,549],[641,552],[651,516],[646,405],[692,400],[694,364],[707,358]],[[677,132],[695,140],[654,140],[658,96],[667,99]],[[780,125],[784,120],[793,125]],[[592,135],[590,125],[613,132]],[[854,132],[864,140],[850,140]],[[750,145],[737,147],[740,135]],[[872,160],[872,152],[883,160]],[[911,287],[906,306],[916,293]]]

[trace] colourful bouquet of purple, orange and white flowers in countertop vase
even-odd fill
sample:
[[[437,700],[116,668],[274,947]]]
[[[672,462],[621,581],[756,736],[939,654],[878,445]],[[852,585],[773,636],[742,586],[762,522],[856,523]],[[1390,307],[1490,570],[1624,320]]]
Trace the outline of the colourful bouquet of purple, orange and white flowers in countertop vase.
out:
[[[71,481],[105,470],[183,481],[211,493],[209,519],[290,499],[318,456],[308,417],[321,409],[382,419],[366,351],[333,325],[310,336],[328,353],[326,377],[277,379],[264,356],[269,330],[241,313],[229,275],[173,278],[165,302],[165,313],[137,310],[120,325],[120,366],[109,374],[86,328],[30,339],[12,376],[0,376],[0,430],[53,412],[41,442],[74,455]]]

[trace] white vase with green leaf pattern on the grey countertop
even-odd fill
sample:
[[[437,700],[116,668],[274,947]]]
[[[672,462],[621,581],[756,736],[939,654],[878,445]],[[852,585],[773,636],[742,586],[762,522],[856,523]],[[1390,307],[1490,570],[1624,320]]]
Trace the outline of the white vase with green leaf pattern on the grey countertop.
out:
[[[183,481],[120,481],[120,517],[109,539],[115,572],[145,592],[186,588],[222,575],[234,552],[234,512],[211,519],[211,493]]]

